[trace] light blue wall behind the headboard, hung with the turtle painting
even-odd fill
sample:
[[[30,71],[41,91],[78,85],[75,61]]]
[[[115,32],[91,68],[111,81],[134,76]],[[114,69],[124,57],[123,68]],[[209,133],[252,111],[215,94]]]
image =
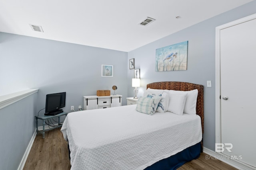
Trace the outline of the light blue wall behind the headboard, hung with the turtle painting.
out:
[[[215,150],[215,27],[254,13],[255,0],[128,52],[128,61],[134,58],[135,68],[140,68],[141,72],[138,96],[142,96],[146,84],[152,82],[182,81],[204,85],[204,147],[211,150]],[[188,41],[188,70],[156,72],[156,49],[183,41]],[[133,96],[132,78],[134,70],[128,70],[129,97]],[[206,80],[212,80],[211,88],[206,87]]]

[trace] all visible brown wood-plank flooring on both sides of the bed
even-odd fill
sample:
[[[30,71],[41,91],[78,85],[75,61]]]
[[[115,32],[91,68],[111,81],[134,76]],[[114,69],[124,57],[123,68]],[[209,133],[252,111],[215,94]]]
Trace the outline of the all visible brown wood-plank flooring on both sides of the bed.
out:
[[[201,153],[200,157],[182,165],[177,170],[237,170],[216,159],[206,159],[208,156]],[[37,135],[30,150],[23,170],[70,170],[67,142],[64,140],[60,128]]]

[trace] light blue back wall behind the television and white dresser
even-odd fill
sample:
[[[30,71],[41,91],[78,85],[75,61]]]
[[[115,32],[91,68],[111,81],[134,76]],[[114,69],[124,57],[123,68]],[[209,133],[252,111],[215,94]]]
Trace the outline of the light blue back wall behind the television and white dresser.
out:
[[[113,94],[113,85],[126,105],[127,52],[1,32],[0,51],[0,91],[38,88],[37,111],[45,107],[46,94],[66,92],[63,109],[70,112],[70,106],[83,107],[83,96],[96,90]],[[113,77],[101,76],[102,64],[113,65]]]

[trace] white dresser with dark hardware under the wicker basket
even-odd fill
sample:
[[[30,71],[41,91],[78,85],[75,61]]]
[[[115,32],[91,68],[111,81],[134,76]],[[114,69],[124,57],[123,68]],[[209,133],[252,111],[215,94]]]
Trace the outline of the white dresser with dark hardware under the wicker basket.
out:
[[[122,95],[84,96],[84,110],[122,106]]]

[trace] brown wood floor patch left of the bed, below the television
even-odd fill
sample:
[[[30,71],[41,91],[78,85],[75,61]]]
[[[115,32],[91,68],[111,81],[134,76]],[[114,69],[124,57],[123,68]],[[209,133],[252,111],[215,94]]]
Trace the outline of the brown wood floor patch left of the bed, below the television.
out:
[[[36,135],[23,170],[69,170],[67,142],[60,128]]]

